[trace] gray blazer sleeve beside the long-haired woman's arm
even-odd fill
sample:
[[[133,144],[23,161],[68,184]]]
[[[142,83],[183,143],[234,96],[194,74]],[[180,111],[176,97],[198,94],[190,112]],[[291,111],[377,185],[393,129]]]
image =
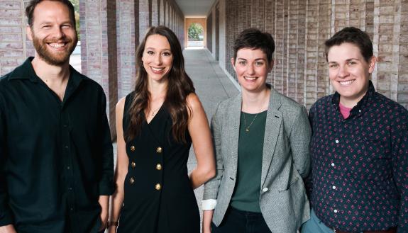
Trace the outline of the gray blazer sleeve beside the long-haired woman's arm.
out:
[[[220,106],[211,118],[211,134],[216,156],[216,176],[204,184],[203,200],[217,199],[221,178],[224,174],[224,164],[221,156],[221,113]]]

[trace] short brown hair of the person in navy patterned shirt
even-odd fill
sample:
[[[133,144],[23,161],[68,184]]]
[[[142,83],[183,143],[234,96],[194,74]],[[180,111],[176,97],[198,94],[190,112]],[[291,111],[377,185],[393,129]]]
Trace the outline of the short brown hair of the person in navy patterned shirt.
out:
[[[343,43],[351,43],[357,46],[365,62],[370,62],[371,57],[373,57],[373,43],[370,36],[358,28],[348,27],[338,31],[329,40],[324,42],[324,45],[326,45],[326,60],[330,48]]]

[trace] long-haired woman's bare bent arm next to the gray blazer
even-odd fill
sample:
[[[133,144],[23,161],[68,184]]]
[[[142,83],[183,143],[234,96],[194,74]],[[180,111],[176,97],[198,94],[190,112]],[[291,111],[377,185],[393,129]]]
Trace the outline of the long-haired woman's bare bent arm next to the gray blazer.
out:
[[[211,142],[209,123],[197,95],[194,93],[189,94],[187,104],[191,110],[188,129],[197,158],[197,166],[189,177],[192,187],[198,188],[215,176],[214,149]]]

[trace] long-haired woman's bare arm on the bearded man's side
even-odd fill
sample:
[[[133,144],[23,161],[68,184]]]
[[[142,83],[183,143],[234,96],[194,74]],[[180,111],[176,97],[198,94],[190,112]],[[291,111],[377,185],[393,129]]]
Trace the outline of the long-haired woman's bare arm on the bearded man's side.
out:
[[[116,169],[115,169],[115,184],[116,191],[111,197],[111,214],[110,222],[118,222],[119,214],[123,204],[124,192],[123,183],[128,173],[129,159],[126,154],[126,144],[123,137],[123,109],[125,107],[125,98],[122,98],[116,104],[116,133],[117,133],[117,147],[118,152],[116,154]],[[116,232],[116,227],[109,227],[109,232]]]

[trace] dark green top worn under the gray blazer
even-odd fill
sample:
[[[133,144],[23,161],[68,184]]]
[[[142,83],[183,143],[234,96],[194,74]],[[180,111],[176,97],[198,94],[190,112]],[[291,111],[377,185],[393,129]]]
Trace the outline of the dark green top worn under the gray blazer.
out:
[[[260,178],[267,112],[241,112],[237,183],[231,198],[232,207],[238,210],[260,212]],[[248,127],[249,131],[246,131]]]

